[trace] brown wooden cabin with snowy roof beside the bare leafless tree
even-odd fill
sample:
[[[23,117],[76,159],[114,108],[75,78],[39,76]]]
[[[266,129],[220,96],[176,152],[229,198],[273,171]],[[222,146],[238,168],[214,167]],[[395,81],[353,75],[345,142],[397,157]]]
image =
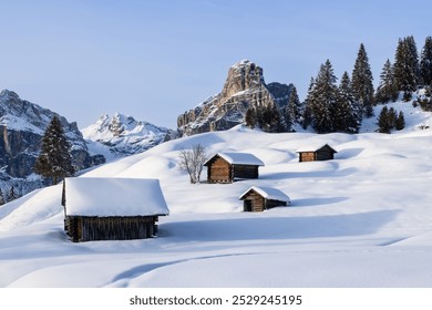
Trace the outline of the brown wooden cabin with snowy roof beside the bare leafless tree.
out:
[[[206,163],[208,183],[233,183],[238,179],[258,178],[264,163],[249,153],[217,153]]]

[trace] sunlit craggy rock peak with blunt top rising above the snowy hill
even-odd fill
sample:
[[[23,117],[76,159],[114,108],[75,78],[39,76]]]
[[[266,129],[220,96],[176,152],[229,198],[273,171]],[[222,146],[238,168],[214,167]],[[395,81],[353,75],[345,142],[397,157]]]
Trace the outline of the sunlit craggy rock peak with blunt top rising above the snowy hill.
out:
[[[279,84],[281,96],[275,96],[266,85],[263,69],[255,63],[243,60],[229,71],[224,89],[193,110],[177,117],[178,132],[193,135],[210,131],[224,131],[244,123],[246,111],[250,106],[287,104],[284,99],[287,85]],[[277,87],[274,86],[276,90]],[[288,95],[289,97],[289,95]]]

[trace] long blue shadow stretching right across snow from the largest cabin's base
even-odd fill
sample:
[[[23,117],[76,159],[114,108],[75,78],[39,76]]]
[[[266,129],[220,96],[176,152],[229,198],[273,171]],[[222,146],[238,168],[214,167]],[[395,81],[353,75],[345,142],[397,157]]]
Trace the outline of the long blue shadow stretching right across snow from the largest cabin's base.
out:
[[[280,240],[373,234],[400,210],[309,217],[257,217],[167,223],[160,237],[176,241]],[[259,215],[258,215],[259,216]]]

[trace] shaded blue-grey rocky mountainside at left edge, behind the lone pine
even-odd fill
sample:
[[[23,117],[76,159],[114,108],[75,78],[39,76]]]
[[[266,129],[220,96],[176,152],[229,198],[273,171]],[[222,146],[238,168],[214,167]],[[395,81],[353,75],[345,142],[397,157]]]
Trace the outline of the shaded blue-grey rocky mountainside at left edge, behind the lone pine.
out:
[[[54,115],[58,114],[21,100],[14,92],[4,90],[0,93],[0,178],[3,180],[0,189],[4,192],[14,184],[17,194],[22,195],[40,187],[42,180],[32,176],[32,169],[42,136]],[[58,116],[72,145],[72,158],[78,169],[104,162],[89,154],[76,123]]]

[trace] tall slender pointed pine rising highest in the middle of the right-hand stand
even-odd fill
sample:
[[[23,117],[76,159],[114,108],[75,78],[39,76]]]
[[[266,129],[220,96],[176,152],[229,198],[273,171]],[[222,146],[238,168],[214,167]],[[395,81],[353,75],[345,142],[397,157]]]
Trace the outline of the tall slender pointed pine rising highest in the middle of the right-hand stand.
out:
[[[367,117],[373,115],[373,76],[363,43],[360,44],[354,69],[352,71],[352,92]]]

